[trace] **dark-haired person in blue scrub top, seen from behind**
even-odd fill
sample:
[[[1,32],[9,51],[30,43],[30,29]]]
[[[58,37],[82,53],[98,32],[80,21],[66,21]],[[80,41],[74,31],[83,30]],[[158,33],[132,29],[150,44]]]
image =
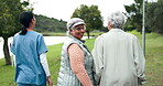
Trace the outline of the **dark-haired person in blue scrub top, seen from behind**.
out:
[[[33,31],[35,18],[32,12],[20,14],[22,31],[13,36],[11,52],[15,55],[15,82],[18,86],[53,86],[43,35]]]

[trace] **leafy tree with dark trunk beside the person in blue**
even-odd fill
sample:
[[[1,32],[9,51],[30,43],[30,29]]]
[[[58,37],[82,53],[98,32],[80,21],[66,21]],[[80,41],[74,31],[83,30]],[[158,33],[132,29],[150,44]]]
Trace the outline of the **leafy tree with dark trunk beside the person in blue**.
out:
[[[23,11],[20,0],[0,0],[0,36],[3,37],[6,64],[11,65],[8,37],[20,31],[19,14]]]

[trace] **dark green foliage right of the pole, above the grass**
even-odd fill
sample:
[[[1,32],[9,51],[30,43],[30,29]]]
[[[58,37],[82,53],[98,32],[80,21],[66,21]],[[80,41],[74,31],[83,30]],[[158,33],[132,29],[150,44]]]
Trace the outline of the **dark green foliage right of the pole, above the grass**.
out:
[[[163,34],[163,0],[146,4],[146,26],[150,31]]]

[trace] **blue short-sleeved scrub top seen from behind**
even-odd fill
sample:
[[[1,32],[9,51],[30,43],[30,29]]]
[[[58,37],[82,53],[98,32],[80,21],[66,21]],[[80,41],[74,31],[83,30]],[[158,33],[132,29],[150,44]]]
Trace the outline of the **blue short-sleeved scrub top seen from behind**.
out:
[[[43,35],[28,31],[25,35],[15,34],[11,52],[15,55],[15,82],[41,85],[46,82],[45,72],[40,63],[40,55],[48,50]]]

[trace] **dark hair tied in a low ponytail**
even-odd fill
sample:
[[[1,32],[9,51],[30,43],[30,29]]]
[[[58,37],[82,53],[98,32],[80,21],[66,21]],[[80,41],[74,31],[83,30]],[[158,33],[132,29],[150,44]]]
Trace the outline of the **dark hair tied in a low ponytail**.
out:
[[[31,23],[33,17],[34,17],[34,14],[29,11],[24,11],[20,14],[19,21],[21,24],[23,24],[23,28],[22,28],[22,31],[20,32],[20,34],[22,34],[22,35],[26,34],[26,32],[28,32],[26,28],[30,26],[30,23]]]

